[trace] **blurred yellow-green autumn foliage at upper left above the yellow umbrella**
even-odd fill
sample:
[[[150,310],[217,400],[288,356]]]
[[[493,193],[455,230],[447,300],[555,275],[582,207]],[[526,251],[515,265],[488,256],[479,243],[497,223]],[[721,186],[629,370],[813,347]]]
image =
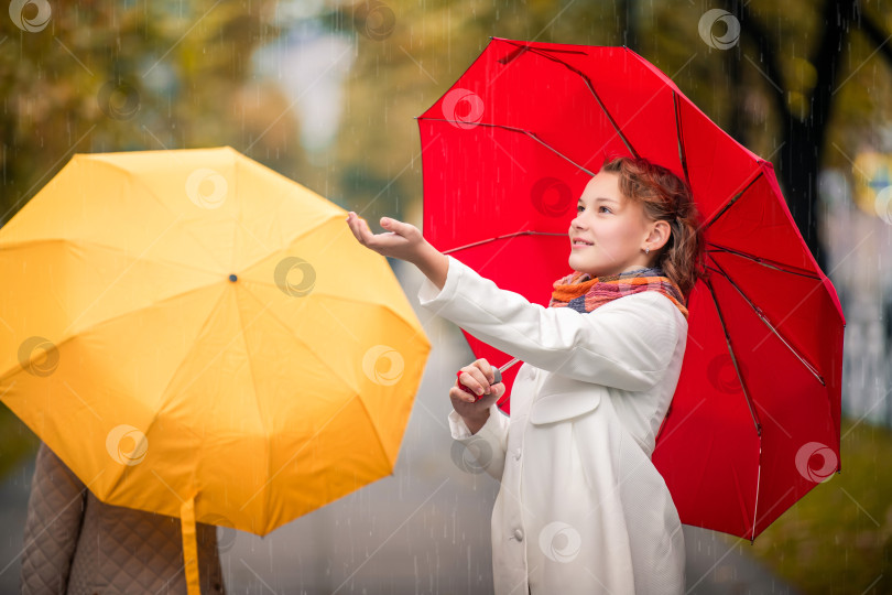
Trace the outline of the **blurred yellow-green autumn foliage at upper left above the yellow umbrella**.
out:
[[[279,34],[274,6],[13,1],[0,18],[0,224],[76,151],[231,144],[296,173],[297,122],[276,87],[251,82],[253,50]]]

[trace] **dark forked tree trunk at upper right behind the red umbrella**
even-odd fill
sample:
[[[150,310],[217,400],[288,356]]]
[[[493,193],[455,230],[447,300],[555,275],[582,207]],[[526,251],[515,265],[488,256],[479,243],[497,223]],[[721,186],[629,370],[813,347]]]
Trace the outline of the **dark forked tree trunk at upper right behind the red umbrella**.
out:
[[[858,105],[860,118],[870,118],[873,112],[871,95],[877,89],[863,85],[849,95],[837,96],[837,93],[844,87],[845,91],[855,89],[856,85],[846,87],[846,84],[875,53],[885,62],[888,78],[892,68],[892,45],[889,43],[892,28],[883,26],[879,18],[871,14],[871,9],[857,0],[825,0],[820,12],[801,14],[803,20],[794,20],[787,4],[781,7],[765,2],[765,12],[770,13],[771,8],[786,11],[782,15],[788,20],[790,34],[777,35],[763,24],[760,13],[751,4],[731,0],[727,6],[730,12],[739,15],[742,34],[758,51],[759,62],[764,66],[763,74],[770,85],[763,85],[763,91],[774,106],[774,116],[779,120],[777,177],[784,186],[796,225],[818,266],[826,270],[826,257],[817,237],[817,178],[820,169],[826,166],[833,112],[848,101]],[[888,11],[879,13],[888,14]],[[804,40],[801,37],[803,32],[796,34],[795,29],[805,30]],[[857,45],[857,50],[852,50],[851,36],[856,31],[867,35],[872,51],[858,51],[861,48]],[[797,42],[804,50],[796,48]],[[847,119],[845,126],[857,123]],[[857,149],[849,145],[848,154],[844,156],[851,161]]]

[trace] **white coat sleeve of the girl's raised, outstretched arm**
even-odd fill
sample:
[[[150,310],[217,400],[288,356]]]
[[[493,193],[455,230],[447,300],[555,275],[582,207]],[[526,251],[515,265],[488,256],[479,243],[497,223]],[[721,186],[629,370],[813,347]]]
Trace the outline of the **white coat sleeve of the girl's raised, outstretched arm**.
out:
[[[418,289],[421,306],[531,366],[641,391],[655,386],[672,360],[683,325],[673,313],[675,305],[655,291],[581,314],[533,304],[455,257],[447,258],[443,289],[425,278]]]

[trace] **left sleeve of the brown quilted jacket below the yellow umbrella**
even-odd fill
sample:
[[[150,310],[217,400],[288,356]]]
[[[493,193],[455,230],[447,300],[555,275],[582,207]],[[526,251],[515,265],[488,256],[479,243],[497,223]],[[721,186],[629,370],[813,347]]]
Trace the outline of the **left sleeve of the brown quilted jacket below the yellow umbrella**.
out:
[[[67,592],[85,505],[84,484],[41,443],[25,518],[23,594]]]

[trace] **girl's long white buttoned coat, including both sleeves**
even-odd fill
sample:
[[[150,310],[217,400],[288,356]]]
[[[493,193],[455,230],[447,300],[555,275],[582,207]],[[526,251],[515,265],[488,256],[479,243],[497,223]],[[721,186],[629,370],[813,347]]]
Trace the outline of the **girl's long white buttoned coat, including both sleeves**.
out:
[[[501,482],[496,593],[683,593],[682,524],[651,454],[682,369],[684,315],[655,291],[586,314],[543,307],[448,260],[442,290],[423,281],[421,305],[524,363],[510,419],[492,405],[471,435],[449,414],[453,437]]]

